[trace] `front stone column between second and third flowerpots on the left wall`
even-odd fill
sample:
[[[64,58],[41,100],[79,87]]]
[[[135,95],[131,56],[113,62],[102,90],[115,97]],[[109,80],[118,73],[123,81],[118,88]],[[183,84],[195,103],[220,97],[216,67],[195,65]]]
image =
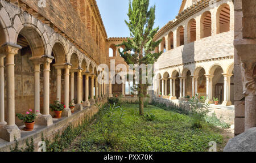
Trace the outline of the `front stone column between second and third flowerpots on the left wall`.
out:
[[[64,105],[66,108],[63,111],[64,117],[71,116],[71,109],[69,109],[69,69],[71,65],[65,65],[65,74],[64,74]]]

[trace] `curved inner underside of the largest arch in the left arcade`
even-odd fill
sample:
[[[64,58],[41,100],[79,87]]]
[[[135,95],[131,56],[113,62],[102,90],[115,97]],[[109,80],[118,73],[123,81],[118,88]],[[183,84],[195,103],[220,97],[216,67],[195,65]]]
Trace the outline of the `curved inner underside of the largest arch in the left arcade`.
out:
[[[42,36],[42,33],[39,33],[39,30],[36,30],[36,28],[31,28],[31,27],[27,27],[25,25],[24,28],[20,29],[16,37],[16,42],[18,41],[21,42],[22,40],[20,39],[23,39],[22,37],[24,37],[26,38],[28,44],[30,45],[32,56],[35,57],[35,56],[49,55],[47,53],[45,38]]]

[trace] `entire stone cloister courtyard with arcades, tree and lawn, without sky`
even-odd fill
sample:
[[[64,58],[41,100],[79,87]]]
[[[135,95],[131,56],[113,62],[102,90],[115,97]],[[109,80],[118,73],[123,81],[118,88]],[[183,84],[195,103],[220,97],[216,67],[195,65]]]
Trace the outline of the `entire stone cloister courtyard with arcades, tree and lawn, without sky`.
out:
[[[255,8],[183,0],[138,50],[96,0],[0,0],[0,151],[255,152]]]

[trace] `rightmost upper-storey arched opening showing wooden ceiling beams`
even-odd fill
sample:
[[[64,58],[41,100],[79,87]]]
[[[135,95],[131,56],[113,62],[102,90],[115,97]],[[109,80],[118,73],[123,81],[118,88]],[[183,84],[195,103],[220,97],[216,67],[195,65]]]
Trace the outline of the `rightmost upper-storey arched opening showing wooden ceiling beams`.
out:
[[[218,7],[216,13],[217,34],[230,31],[230,6],[224,3]]]

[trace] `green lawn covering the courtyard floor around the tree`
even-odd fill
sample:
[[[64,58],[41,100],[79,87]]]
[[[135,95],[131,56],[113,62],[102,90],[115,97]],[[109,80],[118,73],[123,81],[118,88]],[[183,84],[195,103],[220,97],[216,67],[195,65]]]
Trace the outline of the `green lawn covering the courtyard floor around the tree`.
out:
[[[111,114],[112,119],[110,109],[102,109],[89,124],[69,127],[47,151],[208,151],[210,141],[216,141],[218,150],[225,143],[221,129],[207,122],[194,128],[191,117],[177,111],[147,105],[144,113],[155,115],[147,119],[138,115],[138,105],[123,104],[122,108],[121,121],[119,108]]]

